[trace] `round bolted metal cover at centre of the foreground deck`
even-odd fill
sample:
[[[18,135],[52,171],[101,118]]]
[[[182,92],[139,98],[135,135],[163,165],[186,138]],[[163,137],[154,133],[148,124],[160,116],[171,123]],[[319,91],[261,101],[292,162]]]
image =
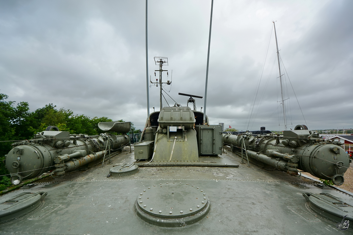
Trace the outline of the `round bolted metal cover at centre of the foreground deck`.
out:
[[[201,187],[178,182],[164,182],[142,189],[136,211],[144,221],[162,227],[195,223],[210,210],[207,194]]]

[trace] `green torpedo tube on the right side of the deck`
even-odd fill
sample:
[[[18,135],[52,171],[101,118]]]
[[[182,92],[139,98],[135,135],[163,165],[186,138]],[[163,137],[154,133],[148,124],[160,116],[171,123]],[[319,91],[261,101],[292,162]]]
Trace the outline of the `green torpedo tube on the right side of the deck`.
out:
[[[266,166],[295,175],[299,169],[320,179],[332,180],[335,185],[343,184],[349,166],[342,143],[320,138],[311,130],[283,131],[282,136],[223,134],[223,142]]]

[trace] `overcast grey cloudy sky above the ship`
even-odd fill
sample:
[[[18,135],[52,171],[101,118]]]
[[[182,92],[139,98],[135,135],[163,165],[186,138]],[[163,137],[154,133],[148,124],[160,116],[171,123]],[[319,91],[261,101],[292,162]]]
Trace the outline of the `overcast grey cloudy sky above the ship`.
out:
[[[148,2],[149,75],[155,81],[154,56],[168,57],[172,86],[163,88],[183,106],[178,92],[204,96],[210,9],[210,0]],[[352,10],[349,0],[214,0],[210,124],[284,130],[275,20],[288,129],[353,128]],[[0,0],[0,93],[30,111],[53,103],[142,129],[145,56],[144,0]],[[149,92],[158,111],[159,87]],[[199,111],[204,98],[195,99]]]

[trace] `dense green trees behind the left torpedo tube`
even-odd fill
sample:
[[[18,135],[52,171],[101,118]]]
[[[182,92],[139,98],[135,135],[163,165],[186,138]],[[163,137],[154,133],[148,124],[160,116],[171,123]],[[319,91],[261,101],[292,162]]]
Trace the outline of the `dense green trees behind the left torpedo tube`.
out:
[[[107,117],[90,118],[85,115],[73,115],[71,110],[64,108],[57,110],[53,103],[30,112],[28,102],[22,101],[15,107],[15,101],[6,101],[7,98],[6,94],[0,94],[0,175],[9,174],[2,160],[11,150],[14,140],[29,140],[37,132],[54,125],[58,126],[60,131],[69,131],[70,134],[97,135],[104,132],[98,128],[98,123],[112,122],[112,119]],[[139,132],[133,123],[131,131]],[[8,177],[0,177],[0,188],[8,186],[9,182]]]

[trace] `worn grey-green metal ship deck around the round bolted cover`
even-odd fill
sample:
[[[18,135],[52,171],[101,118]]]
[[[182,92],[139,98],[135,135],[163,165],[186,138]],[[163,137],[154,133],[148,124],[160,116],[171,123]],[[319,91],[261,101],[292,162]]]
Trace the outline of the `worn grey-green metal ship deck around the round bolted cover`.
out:
[[[129,150],[127,147],[125,150]],[[135,174],[109,177],[119,163],[134,162],[133,152],[123,151],[87,171],[45,178],[36,186],[1,196],[12,198],[22,192],[48,192],[40,209],[0,224],[2,234],[351,234],[336,223],[307,208],[303,193],[330,193],[352,200],[335,190],[322,189],[317,182],[280,171],[267,171],[240,158],[229,148],[220,157],[239,167],[149,166]],[[211,158],[210,158],[211,159]],[[211,160],[210,160],[211,161]],[[59,182],[53,187],[44,183]],[[134,204],[148,186],[166,183],[192,184],[203,188],[211,209],[201,221],[179,228],[149,224],[137,216]],[[297,187],[294,184],[299,184]],[[303,188],[304,187],[304,188]],[[353,224],[351,225],[353,226]]]

